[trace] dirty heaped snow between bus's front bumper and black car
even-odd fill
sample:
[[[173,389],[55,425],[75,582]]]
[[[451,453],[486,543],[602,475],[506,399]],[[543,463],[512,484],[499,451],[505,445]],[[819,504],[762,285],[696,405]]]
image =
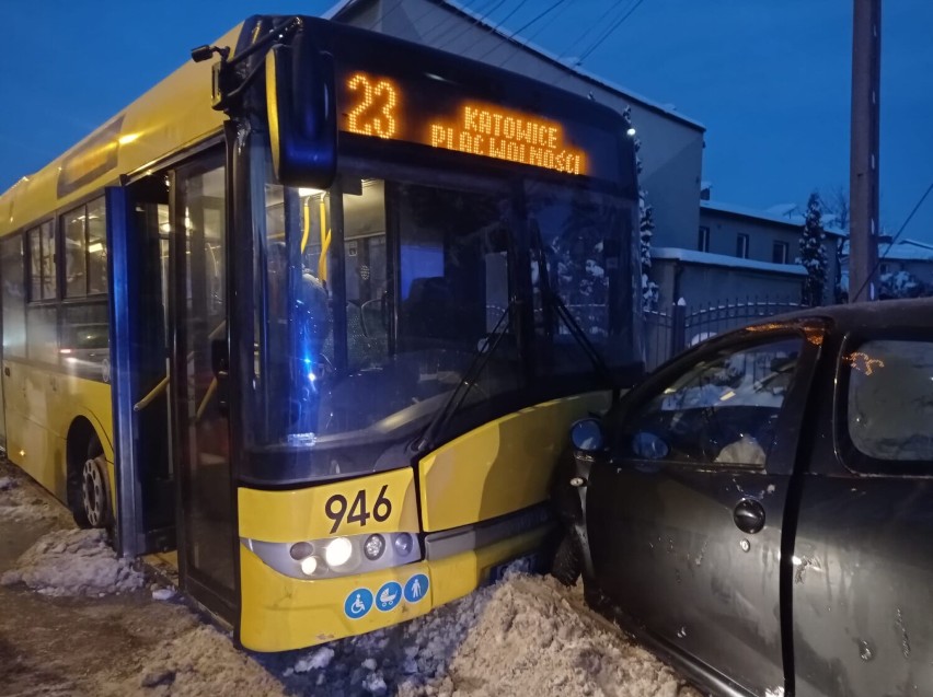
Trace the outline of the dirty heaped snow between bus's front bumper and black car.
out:
[[[526,574],[398,627],[258,659],[287,687],[315,697],[699,695],[597,619],[578,590]]]

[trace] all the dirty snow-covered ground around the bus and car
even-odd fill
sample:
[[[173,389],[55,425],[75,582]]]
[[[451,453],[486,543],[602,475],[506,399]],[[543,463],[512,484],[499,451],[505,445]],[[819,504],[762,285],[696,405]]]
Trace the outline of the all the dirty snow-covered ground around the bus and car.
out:
[[[0,538],[34,528],[32,514],[50,518],[43,531],[53,528],[28,548],[24,541],[18,558],[0,559],[0,604],[12,608],[0,615],[0,647],[18,651],[12,683],[0,684],[14,694],[26,685],[38,693],[25,694],[153,697],[699,696],[587,609],[578,588],[522,573],[361,637],[280,654],[238,650],[178,595],[151,581],[145,588],[103,533],[68,527],[34,483],[4,473],[0,511],[19,512],[0,518]]]

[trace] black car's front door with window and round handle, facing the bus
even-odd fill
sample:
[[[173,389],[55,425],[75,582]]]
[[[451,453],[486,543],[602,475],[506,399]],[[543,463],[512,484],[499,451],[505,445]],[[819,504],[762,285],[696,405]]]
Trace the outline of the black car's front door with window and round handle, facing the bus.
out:
[[[784,686],[782,523],[821,342],[806,329],[745,330],[663,369],[610,415],[587,486],[598,589],[756,695]]]

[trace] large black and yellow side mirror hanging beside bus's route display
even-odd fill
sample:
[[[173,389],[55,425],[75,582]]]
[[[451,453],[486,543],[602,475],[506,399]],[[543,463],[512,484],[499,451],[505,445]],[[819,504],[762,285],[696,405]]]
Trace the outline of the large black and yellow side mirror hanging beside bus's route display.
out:
[[[279,183],[329,188],[337,166],[334,67],[307,32],[266,56],[266,107]]]

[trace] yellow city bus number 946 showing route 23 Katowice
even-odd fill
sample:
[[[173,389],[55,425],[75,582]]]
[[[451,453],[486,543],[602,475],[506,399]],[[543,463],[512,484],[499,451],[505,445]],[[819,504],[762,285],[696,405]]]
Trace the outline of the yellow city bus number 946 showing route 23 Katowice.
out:
[[[0,197],[9,458],[258,651],[541,549],[643,367],[621,116],[314,18],[193,58]]]

